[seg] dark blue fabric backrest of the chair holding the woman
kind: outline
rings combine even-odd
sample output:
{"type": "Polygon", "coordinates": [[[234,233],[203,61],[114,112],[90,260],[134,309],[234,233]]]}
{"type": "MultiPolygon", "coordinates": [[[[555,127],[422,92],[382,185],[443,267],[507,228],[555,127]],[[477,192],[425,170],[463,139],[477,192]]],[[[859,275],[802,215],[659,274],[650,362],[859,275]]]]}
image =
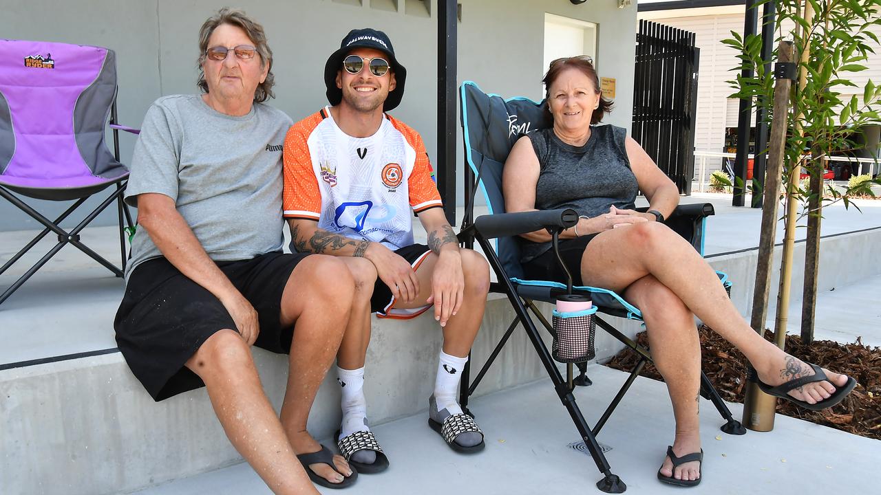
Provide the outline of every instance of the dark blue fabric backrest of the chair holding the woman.
{"type": "MultiPolygon", "coordinates": [[[[507,155],[522,135],[551,127],[551,116],[544,110],[544,101],[505,100],[497,94],[486,94],[471,81],[464,82],[460,88],[460,104],[465,161],[479,178],[478,188],[484,194],[490,213],[504,213],[501,175],[507,155]]],[[[470,204],[473,208],[473,202],[470,204]]],[[[523,277],[520,240],[500,238],[496,254],[508,276],[523,277]]]]}

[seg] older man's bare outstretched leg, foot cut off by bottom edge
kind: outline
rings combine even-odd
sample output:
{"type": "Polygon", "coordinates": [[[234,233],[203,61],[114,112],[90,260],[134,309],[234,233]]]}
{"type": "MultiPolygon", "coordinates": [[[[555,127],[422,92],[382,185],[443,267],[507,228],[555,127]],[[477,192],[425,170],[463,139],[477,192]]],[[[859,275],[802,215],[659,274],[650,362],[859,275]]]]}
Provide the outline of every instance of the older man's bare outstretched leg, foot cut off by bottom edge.
{"type": "Polygon", "coordinates": [[[263,393],[250,347],[238,332],[218,331],[186,366],[205,382],[214,412],[233,447],[273,493],[317,495],[263,393]]]}

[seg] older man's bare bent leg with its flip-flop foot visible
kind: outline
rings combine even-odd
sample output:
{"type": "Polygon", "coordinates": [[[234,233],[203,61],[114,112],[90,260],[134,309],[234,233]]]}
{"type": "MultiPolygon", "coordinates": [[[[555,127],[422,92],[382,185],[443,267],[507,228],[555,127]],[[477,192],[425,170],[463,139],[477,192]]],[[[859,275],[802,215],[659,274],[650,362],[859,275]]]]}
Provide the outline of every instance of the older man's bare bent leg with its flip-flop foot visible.
{"type": "MultiPolygon", "coordinates": [[[[313,255],[301,261],[285,285],[282,295],[282,324],[296,321],[290,354],[281,424],[296,454],[321,450],[307,432],[309,410],[318,387],[333,363],[343,338],[352,307],[354,284],[343,262],[331,256],[313,255]],[[333,280],[333,284],[328,284],[333,280]]],[[[316,474],[331,483],[340,483],[352,474],[348,463],[334,456],[337,471],[327,464],[311,464],[316,474]]]]}

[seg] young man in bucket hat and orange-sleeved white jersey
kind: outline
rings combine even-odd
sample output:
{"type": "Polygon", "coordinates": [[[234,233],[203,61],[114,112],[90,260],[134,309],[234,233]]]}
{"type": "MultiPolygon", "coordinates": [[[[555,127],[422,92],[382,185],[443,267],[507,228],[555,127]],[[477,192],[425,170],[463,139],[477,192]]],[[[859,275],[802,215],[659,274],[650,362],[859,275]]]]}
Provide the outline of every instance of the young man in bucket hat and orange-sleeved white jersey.
{"type": "Polygon", "coordinates": [[[429,424],[456,451],[485,445],[455,393],[483,318],[489,267],[459,247],[422,138],[384,113],[401,102],[406,78],[385,33],[352,30],[325,65],[330,106],[294,124],[285,138],[285,218],[293,247],[342,256],[355,277],[352,315],[337,353],[343,396],[337,446],[364,474],[389,466],[367,425],[363,393],[371,313],[412,318],[434,307],[444,340],[429,424]],[[411,211],[428,233],[427,246],[414,243],[411,211]]]}

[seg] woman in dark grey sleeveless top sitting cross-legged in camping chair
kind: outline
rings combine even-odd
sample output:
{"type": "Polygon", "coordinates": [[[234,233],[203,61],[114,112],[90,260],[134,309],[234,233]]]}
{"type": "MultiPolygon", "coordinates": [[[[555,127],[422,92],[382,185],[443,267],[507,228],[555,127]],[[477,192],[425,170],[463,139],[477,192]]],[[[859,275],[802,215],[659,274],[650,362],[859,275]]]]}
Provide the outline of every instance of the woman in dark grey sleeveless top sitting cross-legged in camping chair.
{"type": "MultiPolygon", "coordinates": [[[[673,403],[676,436],[658,470],[668,484],[700,483],[700,341],[694,316],[737,346],[767,393],[811,409],[831,407],[853,388],[838,373],[815,373],[750,328],[714,270],[663,224],[679,202],[677,187],[626,130],[596,126],[611,110],[589,57],[562,58],[544,76],[552,129],[521,137],[505,164],[507,211],[572,208],[581,218],[560,234],[559,249],[576,284],[611,289],[639,307],[652,358],[673,403]],[[634,210],[637,190],[648,212],[634,210]],[[815,376],[812,376],[815,375],[815,376]],[[803,386],[795,380],[814,380],[803,386]],[[777,386],[781,386],[777,388],[777,386]]],[[[522,234],[530,278],[563,282],[545,231],[522,234]]]]}

